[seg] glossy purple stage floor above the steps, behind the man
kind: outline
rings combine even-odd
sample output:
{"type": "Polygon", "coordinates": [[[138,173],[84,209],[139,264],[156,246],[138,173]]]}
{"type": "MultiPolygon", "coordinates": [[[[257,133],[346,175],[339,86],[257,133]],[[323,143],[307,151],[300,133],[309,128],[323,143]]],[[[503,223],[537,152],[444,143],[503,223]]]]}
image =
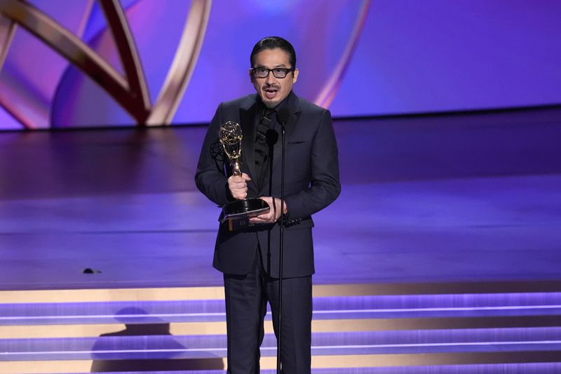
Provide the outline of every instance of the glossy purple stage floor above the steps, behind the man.
{"type": "MultiPolygon", "coordinates": [[[[560,108],[335,128],[316,284],[561,280],[560,108]]],[[[0,133],[0,289],[219,286],[219,208],[193,180],[204,133],[0,133]]]]}

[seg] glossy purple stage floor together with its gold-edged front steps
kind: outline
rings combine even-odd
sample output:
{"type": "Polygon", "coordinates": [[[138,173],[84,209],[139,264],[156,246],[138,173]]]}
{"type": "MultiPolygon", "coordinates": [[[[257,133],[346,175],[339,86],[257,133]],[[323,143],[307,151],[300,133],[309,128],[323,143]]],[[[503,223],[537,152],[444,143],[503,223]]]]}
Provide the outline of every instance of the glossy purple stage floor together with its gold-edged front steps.
{"type": "MultiPolygon", "coordinates": [[[[560,373],[561,107],[335,130],[312,373],[560,373]]],[[[224,373],[204,133],[0,133],[0,373],[224,373]]]]}

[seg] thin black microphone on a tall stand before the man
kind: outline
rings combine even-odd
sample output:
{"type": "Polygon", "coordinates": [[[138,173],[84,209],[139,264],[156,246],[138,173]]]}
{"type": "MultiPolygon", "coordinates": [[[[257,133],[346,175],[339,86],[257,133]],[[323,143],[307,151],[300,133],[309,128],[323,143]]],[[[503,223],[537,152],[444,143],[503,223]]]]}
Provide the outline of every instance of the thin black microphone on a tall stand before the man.
{"type": "Polygon", "coordinates": [[[294,113],[288,107],[282,107],[276,112],[276,119],[280,124],[280,133],[283,136],[282,152],[280,156],[280,246],[278,252],[278,337],[276,340],[276,373],[280,374],[280,339],[282,335],[282,310],[283,310],[283,250],[285,234],[285,126],[295,119],[294,113]]]}

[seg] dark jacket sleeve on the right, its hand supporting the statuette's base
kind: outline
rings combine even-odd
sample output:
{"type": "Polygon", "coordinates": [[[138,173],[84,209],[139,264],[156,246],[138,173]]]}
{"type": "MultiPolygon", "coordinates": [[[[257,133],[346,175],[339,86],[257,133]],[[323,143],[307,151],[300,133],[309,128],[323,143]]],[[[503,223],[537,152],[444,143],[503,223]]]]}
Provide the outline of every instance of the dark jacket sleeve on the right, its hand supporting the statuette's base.
{"type": "Polygon", "coordinates": [[[337,141],[327,109],[322,109],[313,134],[310,163],[309,187],[285,198],[290,221],[309,218],[337,199],[341,192],[337,141]]]}

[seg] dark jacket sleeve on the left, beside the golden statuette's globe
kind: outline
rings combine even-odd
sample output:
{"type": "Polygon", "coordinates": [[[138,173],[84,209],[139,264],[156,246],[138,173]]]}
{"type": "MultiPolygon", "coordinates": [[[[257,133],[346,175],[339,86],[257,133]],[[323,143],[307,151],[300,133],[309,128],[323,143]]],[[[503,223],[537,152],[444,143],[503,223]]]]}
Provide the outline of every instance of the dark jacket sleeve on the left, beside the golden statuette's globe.
{"type": "Polygon", "coordinates": [[[228,180],[224,164],[229,162],[219,142],[219,130],[222,123],[222,104],[218,106],[215,116],[203,141],[203,148],[198,158],[195,183],[199,191],[216,203],[223,206],[234,198],[228,188],[228,180]]]}

